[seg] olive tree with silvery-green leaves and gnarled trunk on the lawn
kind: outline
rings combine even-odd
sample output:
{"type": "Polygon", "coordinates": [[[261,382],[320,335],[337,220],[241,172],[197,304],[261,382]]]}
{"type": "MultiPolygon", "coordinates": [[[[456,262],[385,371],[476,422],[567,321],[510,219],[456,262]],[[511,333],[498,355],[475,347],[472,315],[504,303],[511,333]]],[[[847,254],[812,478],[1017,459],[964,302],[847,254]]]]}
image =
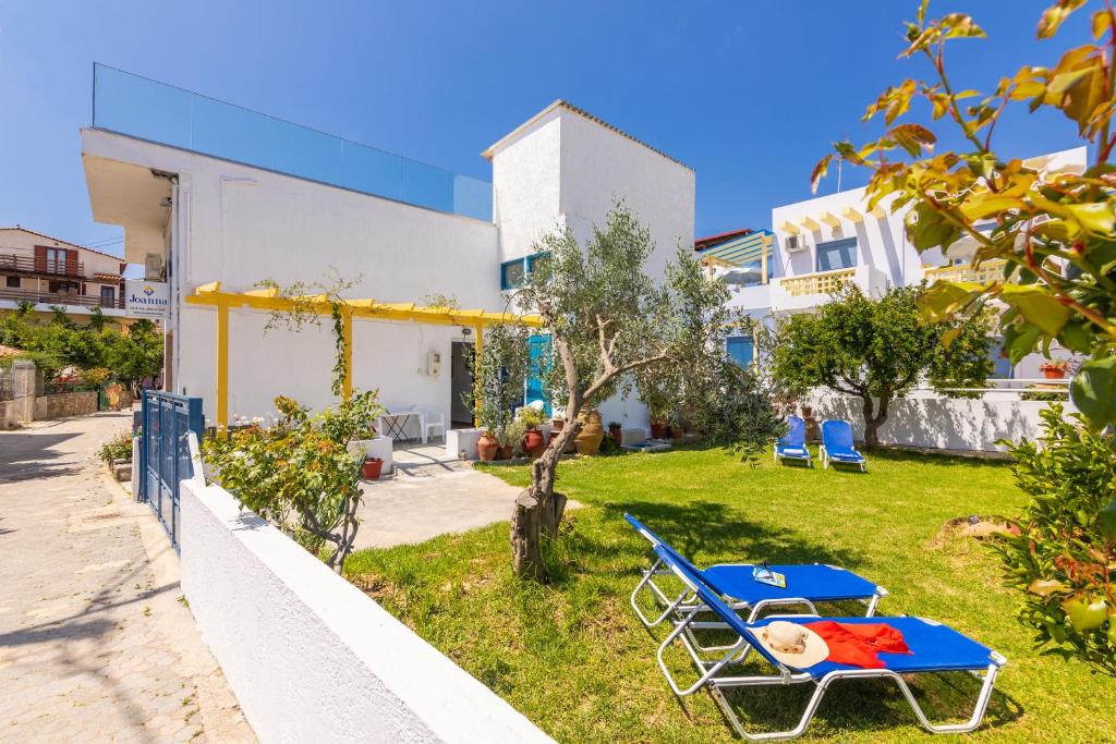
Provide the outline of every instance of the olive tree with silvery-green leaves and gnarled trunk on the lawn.
{"type": "Polygon", "coordinates": [[[566,496],[555,492],[560,453],[581,431],[579,416],[616,392],[631,392],[636,370],[683,366],[701,348],[695,328],[718,299],[694,297],[679,267],[693,272],[692,247],[680,245],[662,283],[646,273],[654,251],[650,231],[623,203],[595,225],[585,245],[568,229],[533,247],[542,255],[514,302],[542,319],[555,354],[550,388],[565,405],[566,426],[531,464],[531,485],[516,500],[512,562],[522,577],[545,578],[543,537],[557,534],[566,496]]]}

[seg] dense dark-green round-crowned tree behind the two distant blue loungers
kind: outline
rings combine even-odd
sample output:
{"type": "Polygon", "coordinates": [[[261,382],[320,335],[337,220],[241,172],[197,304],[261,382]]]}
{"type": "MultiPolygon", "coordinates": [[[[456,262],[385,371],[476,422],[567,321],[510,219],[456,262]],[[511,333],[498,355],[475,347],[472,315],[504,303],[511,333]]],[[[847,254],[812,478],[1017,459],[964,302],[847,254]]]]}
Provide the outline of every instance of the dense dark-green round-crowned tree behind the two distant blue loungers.
{"type": "Polygon", "coordinates": [[[979,387],[993,368],[988,321],[924,321],[921,291],[892,288],[867,297],[846,284],[817,312],[780,325],[771,374],[799,394],[826,387],[860,398],[864,442],[879,444],[892,400],[924,377],[936,387],[979,387]]]}

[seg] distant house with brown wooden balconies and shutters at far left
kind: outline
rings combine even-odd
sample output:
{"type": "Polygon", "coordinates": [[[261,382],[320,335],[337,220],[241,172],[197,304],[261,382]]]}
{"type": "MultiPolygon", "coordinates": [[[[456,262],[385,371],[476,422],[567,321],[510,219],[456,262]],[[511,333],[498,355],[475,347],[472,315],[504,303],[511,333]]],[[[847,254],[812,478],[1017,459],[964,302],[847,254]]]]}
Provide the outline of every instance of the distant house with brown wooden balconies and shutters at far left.
{"type": "Polygon", "coordinates": [[[21,226],[0,228],[0,312],[31,302],[49,315],[60,306],[80,318],[93,308],[124,315],[124,269],[118,257],[21,226]]]}

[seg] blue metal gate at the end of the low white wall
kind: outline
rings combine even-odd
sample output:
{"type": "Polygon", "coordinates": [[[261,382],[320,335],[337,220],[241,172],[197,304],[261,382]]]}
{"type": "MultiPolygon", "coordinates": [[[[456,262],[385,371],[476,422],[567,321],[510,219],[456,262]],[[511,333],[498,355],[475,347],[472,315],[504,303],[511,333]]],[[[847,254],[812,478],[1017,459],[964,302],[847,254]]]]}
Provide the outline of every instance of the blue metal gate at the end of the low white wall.
{"type": "Polygon", "coordinates": [[[179,483],[194,474],[186,435],[193,432],[202,441],[202,399],[145,390],[140,425],[140,497],[179,550],[179,483]]]}

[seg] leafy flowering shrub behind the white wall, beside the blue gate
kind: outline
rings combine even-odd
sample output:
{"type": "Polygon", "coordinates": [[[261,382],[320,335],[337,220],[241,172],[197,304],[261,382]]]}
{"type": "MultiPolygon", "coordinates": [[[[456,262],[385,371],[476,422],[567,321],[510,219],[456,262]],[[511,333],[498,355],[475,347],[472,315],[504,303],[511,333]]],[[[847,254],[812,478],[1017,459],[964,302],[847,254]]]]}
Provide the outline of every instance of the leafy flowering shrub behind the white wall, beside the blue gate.
{"type": "Polygon", "coordinates": [[[296,538],[312,552],[328,545],[325,562],[340,572],[359,521],[364,453],[348,445],[383,413],[376,392],[354,394],[314,416],[280,396],[282,417],[270,427],[253,423],[208,438],[202,454],[215,480],[244,506],[296,538]]]}

